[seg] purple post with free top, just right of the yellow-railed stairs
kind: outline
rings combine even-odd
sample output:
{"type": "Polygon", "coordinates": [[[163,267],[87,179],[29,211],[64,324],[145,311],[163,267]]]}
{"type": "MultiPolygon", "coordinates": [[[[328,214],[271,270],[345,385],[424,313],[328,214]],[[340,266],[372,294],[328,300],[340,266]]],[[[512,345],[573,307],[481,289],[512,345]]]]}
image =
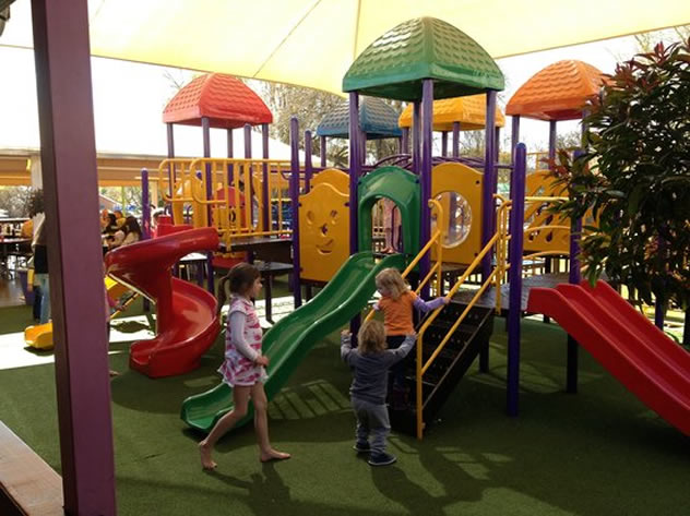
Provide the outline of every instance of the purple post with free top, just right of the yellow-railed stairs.
{"type": "Polygon", "coordinates": [[[524,143],[515,148],[511,192],[513,206],[510,213],[511,235],[510,292],[508,307],[508,415],[518,416],[520,391],[520,319],[522,316],[522,251],[525,218],[525,168],[527,151],[524,143]]]}

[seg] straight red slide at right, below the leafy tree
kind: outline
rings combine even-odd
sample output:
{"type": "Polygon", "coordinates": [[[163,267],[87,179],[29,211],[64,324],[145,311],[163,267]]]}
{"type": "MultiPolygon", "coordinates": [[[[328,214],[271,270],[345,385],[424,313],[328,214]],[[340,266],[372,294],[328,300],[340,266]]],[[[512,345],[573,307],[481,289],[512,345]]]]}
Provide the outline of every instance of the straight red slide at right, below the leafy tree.
{"type": "Polygon", "coordinates": [[[527,311],[554,317],[642,403],[690,435],[690,353],[608,284],[534,288],[527,311]]]}

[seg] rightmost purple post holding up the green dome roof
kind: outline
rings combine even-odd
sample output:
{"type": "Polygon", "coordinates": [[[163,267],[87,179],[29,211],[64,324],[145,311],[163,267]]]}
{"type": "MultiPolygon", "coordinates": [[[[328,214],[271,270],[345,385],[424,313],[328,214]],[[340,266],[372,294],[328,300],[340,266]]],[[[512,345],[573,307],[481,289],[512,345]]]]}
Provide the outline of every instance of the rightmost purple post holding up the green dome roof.
{"type": "MultiPolygon", "coordinates": [[[[481,247],[491,240],[496,226],[496,167],[493,166],[493,137],[496,128],[496,92],[489,89],[486,94],[486,128],[485,128],[485,154],[484,154],[484,191],[483,191],[483,213],[481,213],[481,247]]],[[[485,254],[481,260],[481,278],[484,281],[491,274],[491,263],[493,261],[492,250],[485,254]]]]}

